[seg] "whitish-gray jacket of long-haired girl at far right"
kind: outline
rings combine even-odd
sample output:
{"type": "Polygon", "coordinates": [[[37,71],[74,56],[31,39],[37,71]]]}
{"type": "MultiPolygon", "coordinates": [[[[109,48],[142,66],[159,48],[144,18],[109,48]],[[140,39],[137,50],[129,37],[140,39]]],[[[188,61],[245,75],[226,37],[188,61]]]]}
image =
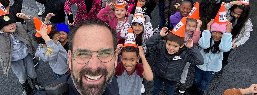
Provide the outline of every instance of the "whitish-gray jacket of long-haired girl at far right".
{"type": "MultiPolygon", "coordinates": [[[[230,13],[230,11],[228,10],[229,8],[231,8],[233,5],[231,5],[230,3],[227,3],[225,5],[225,9],[226,9],[226,14],[227,15],[227,20],[228,21],[231,21],[233,17],[230,16],[230,14],[233,14],[233,13],[230,13]]],[[[232,26],[236,25],[237,23],[237,20],[235,20],[235,23],[233,23],[232,26]]],[[[253,31],[252,29],[253,25],[252,25],[252,22],[251,22],[251,19],[249,18],[249,20],[247,20],[245,23],[244,23],[244,27],[243,29],[239,32],[238,36],[237,37],[234,37],[232,39],[232,44],[236,44],[236,46],[240,46],[242,44],[244,44],[250,37],[250,32],[253,31]]],[[[232,27],[232,30],[233,30],[233,27],[232,27]]]]}

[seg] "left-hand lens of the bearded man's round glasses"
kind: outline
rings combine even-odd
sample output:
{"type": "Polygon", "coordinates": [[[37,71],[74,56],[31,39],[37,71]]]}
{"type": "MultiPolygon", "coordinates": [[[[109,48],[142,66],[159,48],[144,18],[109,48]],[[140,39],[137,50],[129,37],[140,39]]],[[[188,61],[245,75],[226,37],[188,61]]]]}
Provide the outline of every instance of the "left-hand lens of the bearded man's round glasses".
{"type": "Polygon", "coordinates": [[[89,50],[77,50],[76,52],[74,52],[74,60],[79,63],[79,64],[85,64],[87,63],[90,58],[91,58],[91,53],[89,50]]]}

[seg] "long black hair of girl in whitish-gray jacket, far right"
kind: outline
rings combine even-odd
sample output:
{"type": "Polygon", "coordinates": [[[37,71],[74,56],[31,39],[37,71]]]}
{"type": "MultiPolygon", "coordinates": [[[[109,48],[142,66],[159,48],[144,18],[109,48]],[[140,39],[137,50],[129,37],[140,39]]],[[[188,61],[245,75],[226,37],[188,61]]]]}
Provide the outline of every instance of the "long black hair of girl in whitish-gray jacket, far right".
{"type": "Polygon", "coordinates": [[[235,26],[232,27],[232,31],[231,31],[232,39],[234,39],[238,36],[240,31],[244,28],[244,24],[248,20],[250,20],[249,19],[249,13],[250,13],[251,10],[250,10],[250,7],[248,5],[241,5],[241,6],[233,5],[229,9],[229,11],[230,11],[230,14],[227,14],[227,15],[230,15],[231,17],[233,17],[230,22],[232,24],[236,24],[235,26]],[[234,9],[241,9],[242,10],[241,16],[237,19],[237,23],[235,23],[236,18],[233,15],[234,9]]]}

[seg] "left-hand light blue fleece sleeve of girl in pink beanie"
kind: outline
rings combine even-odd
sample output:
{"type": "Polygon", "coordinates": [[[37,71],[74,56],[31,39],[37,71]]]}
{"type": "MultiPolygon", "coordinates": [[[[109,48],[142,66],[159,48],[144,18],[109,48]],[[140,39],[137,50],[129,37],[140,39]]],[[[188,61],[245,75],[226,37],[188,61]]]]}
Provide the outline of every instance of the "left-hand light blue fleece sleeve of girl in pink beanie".
{"type": "Polygon", "coordinates": [[[212,34],[210,33],[209,30],[204,30],[202,33],[202,37],[198,41],[198,44],[201,46],[203,49],[207,49],[210,47],[210,37],[212,34]]]}

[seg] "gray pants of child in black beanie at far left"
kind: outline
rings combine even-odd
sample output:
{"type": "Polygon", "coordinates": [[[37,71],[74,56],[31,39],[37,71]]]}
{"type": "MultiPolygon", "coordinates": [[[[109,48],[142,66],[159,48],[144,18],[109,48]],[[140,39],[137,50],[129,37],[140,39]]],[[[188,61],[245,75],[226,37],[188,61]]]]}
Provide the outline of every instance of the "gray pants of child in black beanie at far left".
{"type": "Polygon", "coordinates": [[[32,79],[36,78],[33,58],[30,53],[22,60],[12,61],[11,68],[21,84],[27,80],[27,74],[32,79]]]}

